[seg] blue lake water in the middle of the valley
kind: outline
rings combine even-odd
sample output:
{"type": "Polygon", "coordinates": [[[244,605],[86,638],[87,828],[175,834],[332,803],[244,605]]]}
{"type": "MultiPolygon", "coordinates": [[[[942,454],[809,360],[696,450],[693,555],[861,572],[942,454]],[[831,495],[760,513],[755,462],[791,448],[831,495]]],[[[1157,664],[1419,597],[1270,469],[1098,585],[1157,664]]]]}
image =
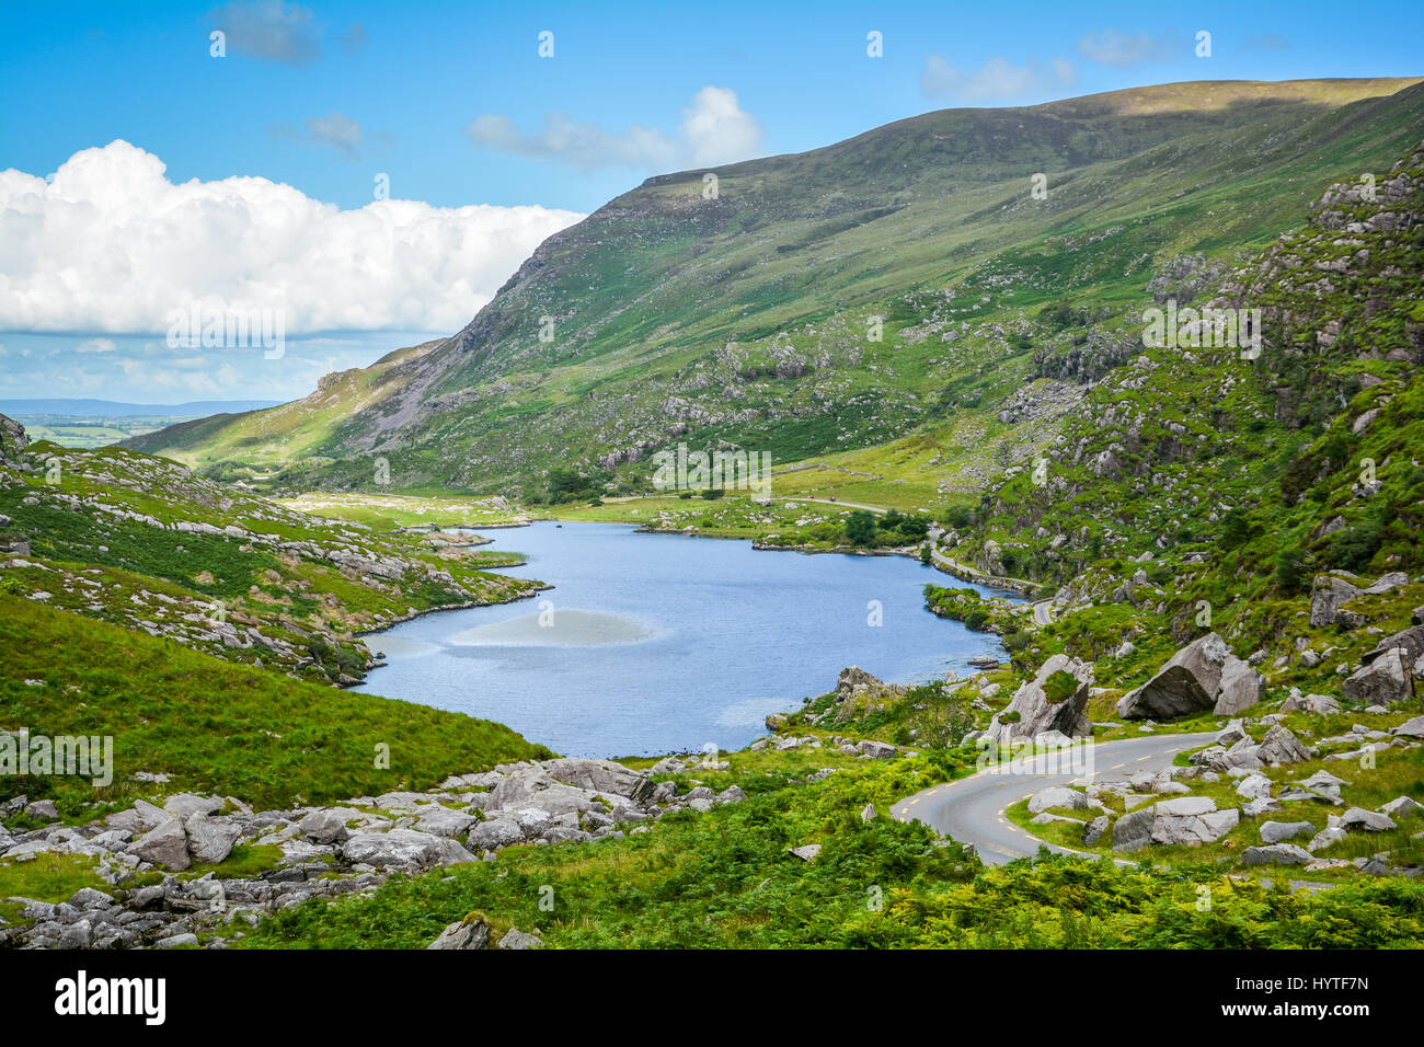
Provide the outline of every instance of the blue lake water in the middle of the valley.
{"type": "Polygon", "coordinates": [[[484,534],[484,548],[528,557],[506,571],[554,588],[369,637],[389,664],[357,689],[496,719],[570,756],[631,756],[739,749],[766,734],[768,712],[830,691],[846,665],[924,682],[1002,650],[924,610],[927,583],[964,583],[906,557],[758,551],[628,524],[484,534]]]}

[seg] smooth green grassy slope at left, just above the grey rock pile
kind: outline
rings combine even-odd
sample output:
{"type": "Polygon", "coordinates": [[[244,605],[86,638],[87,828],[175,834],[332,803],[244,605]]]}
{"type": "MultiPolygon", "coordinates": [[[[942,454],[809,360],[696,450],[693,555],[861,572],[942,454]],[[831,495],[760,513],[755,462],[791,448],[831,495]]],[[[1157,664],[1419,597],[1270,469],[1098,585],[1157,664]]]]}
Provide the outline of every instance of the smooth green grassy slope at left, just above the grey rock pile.
{"type": "Polygon", "coordinates": [[[108,788],[0,778],[0,796],[48,796],[73,821],[151,795],[155,786],[132,781],[137,771],[168,773],[171,792],[281,806],[551,755],[500,724],[286,679],[4,594],[0,647],[0,726],[114,739],[108,788]],[[389,746],[389,769],[377,766],[377,746],[389,746]]]}

